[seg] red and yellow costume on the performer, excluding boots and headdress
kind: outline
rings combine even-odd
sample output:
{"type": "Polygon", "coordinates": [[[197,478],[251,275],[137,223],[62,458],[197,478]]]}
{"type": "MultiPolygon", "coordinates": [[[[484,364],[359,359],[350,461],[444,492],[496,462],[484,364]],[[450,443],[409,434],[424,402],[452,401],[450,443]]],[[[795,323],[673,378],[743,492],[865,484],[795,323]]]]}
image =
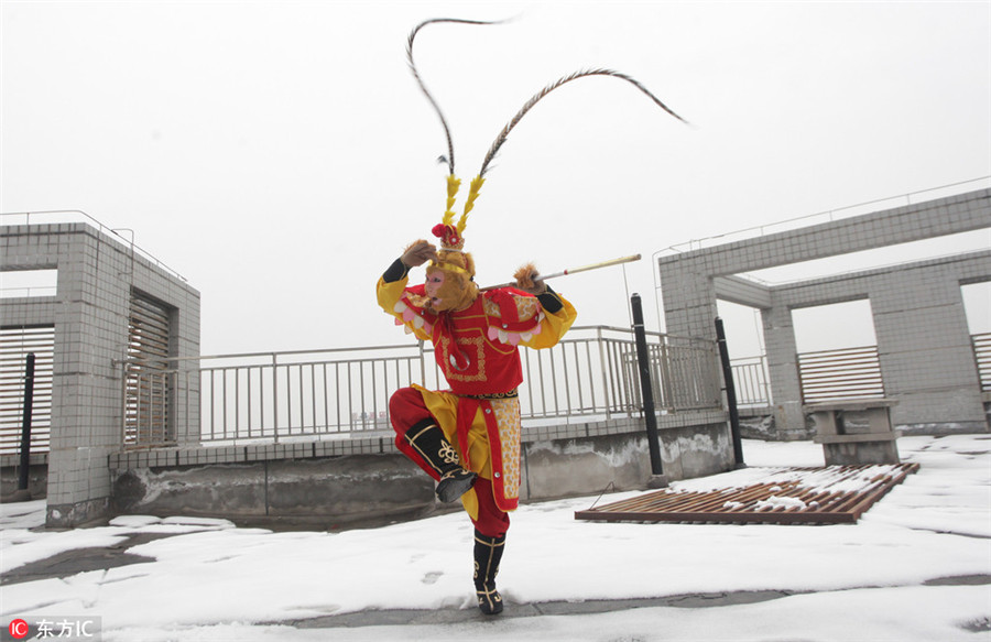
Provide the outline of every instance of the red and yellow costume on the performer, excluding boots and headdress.
{"type": "Polygon", "coordinates": [[[482,533],[504,535],[508,518],[500,525],[498,513],[515,509],[520,497],[520,403],[515,390],[523,372],[519,348],[556,345],[577,313],[556,293],[538,297],[514,287],[481,292],[464,309],[436,312],[423,285],[406,287],[406,274],[395,281],[386,281],[386,276],[379,279],[379,305],[395,317],[398,325],[433,344],[437,364],[450,385],[449,391],[431,391],[414,384],[422,405],[411,396],[411,389],[398,391],[390,404],[396,446],[434,479],[439,478],[403,437],[423,418],[417,416],[420,409],[425,409],[457,448],[461,466],[480,478],[461,496],[472,522],[482,533]],[[494,521],[489,514],[492,512],[497,514],[494,521]]]}

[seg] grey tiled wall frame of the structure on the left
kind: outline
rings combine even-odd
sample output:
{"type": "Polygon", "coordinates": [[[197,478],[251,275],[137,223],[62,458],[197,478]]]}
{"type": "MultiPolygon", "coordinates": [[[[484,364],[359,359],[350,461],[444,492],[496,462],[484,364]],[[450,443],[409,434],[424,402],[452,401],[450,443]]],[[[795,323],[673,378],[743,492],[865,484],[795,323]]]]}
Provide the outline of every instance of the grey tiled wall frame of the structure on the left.
{"type": "Polygon", "coordinates": [[[174,309],[174,357],[199,352],[199,293],[86,224],[4,226],[0,247],[2,271],[58,271],[55,295],[6,298],[0,316],[4,327],[55,328],[47,522],[80,524],[110,510],[107,460],[121,447],[131,293],[174,309]]]}

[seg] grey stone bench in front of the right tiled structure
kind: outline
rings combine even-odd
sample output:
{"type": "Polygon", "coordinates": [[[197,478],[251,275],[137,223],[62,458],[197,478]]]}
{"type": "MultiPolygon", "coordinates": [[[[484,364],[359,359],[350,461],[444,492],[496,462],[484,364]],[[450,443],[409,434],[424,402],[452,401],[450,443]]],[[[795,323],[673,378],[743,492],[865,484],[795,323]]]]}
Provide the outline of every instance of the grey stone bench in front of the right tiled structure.
{"type": "Polygon", "coordinates": [[[814,442],[823,444],[827,466],[901,464],[891,425],[893,399],[837,399],[805,406],[816,427],[814,442]]]}

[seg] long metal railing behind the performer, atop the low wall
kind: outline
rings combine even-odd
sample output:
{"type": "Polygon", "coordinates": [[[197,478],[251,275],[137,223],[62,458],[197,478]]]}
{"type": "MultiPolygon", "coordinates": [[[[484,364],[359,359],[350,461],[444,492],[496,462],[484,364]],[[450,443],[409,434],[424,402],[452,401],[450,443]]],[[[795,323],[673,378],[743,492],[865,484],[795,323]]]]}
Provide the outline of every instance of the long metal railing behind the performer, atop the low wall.
{"type": "MultiPolygon", "coordinates": [[[[658,333],[649,333],[647,339],[662,412],[721,407],[715,341],[658,333]]],[[[640,412],[629,329],[575,327],[554,348],[522,352],[524,420],[640,412]]],[[[388,431],[389,398],[396,389],[412,383],[447,388],[433,348],[423,344],[171,361],[170,370],[121,364],[131,368],[124,390],[131,402],[124,402],[131,409],[122,434],[126,447],[275,443],[388,431]]]]}

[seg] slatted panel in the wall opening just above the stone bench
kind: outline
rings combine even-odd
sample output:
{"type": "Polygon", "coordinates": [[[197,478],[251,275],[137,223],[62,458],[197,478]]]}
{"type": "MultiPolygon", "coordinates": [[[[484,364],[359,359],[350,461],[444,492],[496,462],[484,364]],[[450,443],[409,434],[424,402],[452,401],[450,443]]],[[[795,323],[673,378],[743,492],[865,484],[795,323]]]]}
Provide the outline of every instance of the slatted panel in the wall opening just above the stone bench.
{"type": "Polygon", "coordinates": [[[876,346],[798,355],[803,403],[884,396],[876,346]]]}

